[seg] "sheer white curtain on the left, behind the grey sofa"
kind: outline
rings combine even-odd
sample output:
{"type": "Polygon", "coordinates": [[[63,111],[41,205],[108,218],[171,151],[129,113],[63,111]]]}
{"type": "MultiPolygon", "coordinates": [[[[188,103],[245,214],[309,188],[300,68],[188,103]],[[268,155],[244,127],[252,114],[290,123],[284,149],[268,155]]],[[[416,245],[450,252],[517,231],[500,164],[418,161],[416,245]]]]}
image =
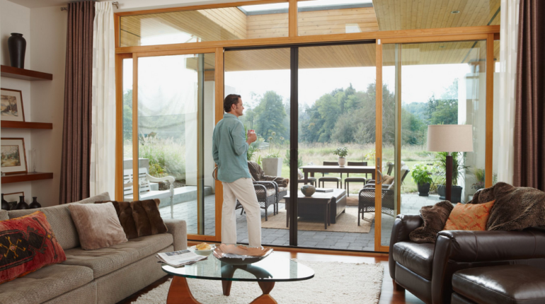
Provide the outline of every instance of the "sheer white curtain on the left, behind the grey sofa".
{"type": "Polygon", "coordinates": [[[115,28],[111,1],[95,3],[91,196],[115,197],[115,28]]]}

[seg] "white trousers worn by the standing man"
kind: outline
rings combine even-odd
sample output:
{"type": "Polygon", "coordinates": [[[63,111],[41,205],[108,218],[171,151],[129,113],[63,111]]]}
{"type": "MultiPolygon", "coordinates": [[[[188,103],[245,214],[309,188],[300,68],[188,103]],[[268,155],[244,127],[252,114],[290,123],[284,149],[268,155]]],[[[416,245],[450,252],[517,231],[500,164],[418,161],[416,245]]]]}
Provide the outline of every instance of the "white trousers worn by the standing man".
{"type": "Polygon", "coordinates": [[[261,210],[251,178],[239,178],[234,182],[222,182],[222,243],[236,244],[236,199],[246,211],[248,245],[261,247],[261,210]]]}

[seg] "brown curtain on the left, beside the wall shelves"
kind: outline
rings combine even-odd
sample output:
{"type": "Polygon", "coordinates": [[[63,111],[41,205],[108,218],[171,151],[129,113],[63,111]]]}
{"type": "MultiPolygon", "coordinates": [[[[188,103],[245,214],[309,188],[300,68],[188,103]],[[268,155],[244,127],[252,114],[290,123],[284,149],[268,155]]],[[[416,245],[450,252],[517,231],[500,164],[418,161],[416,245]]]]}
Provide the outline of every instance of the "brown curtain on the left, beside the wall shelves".
{"type": "Polygon", "coordinates": [[[93,1],[68,4],[60,203],[89,197],[93,1]]]}

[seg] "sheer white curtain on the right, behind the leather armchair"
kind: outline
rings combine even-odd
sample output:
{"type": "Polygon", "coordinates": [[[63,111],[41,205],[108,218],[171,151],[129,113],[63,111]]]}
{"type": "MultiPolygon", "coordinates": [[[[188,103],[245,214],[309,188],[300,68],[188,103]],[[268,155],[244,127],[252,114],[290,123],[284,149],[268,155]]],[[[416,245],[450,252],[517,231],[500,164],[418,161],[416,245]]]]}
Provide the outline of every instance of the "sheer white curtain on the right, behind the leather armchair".
{"type": "Polygon", "coordinates": [[[501,1],[500,25],[500,134],[498,182],[513,182],[513,130],[515,129],[515,83],[517,82],[517,45],[520,0],[501,1]]]}

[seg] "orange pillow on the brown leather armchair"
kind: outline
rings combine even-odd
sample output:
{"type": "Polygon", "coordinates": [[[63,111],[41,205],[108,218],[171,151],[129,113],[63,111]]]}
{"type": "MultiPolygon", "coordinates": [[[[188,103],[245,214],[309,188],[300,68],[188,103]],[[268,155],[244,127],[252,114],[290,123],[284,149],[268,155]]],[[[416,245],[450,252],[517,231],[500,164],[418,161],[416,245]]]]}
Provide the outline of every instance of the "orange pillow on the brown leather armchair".
{"type": "Polygon", "coordinates": [[[486,222],[495,201],[485,204],[456,204],[443,230],[486,230],[486,222]]]}

